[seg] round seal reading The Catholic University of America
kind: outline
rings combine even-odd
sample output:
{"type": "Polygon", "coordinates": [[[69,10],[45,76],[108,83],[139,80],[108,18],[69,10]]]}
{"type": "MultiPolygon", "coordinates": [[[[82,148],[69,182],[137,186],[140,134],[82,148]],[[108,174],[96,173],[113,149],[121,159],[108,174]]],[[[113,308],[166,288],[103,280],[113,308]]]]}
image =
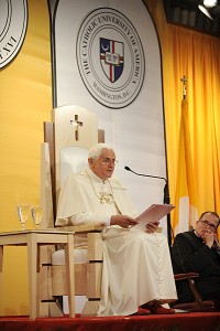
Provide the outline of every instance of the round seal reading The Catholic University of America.
{"type": "Polygon", "coordinates": [[[76,50],[84,84],[100,104],[122,108],[135,99],[144,79],[144,53],[128,18],[111,8],[90,12],[76,50]]]}

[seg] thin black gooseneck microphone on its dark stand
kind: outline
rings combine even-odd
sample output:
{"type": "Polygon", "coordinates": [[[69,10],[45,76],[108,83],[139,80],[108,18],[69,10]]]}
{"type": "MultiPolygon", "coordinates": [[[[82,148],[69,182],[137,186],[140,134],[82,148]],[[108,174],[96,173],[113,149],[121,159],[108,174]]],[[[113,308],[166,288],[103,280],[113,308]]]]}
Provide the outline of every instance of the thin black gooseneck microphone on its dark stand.
{"type": "MultiPolygon", "coordinates": [[[[164,204],[169,204],[169,190],[168,190],[168,182],[167,179],[164,177],[160,177],[160,175],[153,175],[153,174],[144,174],[144,173],[138,173],[133,170],[131,170],[131,168],[129,168],[128,166],[124,167],[124,169],[127,171],[131,171],[136,175],[142,175],[142,177],[148,177],[148,178],[157,178],[157,179],[162,179],[165,181],[165,186],[164,186],[164,204]]],[[[172,247],[172,223],[170,223],[170,213],[167,214],[167,241],[168,241],[168,246],[169,248],[172,247]]]]}

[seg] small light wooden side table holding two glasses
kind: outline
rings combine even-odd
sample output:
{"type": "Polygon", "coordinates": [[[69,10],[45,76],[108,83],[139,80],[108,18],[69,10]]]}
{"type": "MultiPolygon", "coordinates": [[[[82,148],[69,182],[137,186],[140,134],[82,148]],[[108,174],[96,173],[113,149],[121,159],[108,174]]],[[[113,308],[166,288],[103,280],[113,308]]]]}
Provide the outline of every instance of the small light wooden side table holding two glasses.
{"type": "Polygon", "coordinates": [[[74,275],[74,233],[66,231],[26,229],[0,233],[0,288],[2,286],[3,248],[4,246],[28,247],[29,270],[29,302],[30,318],[40,317],[38,299],[38,273],[40,273],[40,246],[65,245],[65,265],[67,275],[67,288],[69,300],[69,317],[75,317],[75,275],[74,275]]]}

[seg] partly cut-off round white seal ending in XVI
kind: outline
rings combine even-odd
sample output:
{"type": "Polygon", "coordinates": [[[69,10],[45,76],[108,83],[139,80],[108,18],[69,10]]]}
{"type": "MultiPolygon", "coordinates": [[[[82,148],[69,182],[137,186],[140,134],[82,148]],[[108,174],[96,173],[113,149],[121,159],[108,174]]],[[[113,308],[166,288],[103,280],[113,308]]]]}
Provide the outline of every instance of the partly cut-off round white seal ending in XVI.
{"type": "Polygon", "coordinates": [[[26,25],[26,0],[0,0],[0,68],[18,54],[26,25]]]}

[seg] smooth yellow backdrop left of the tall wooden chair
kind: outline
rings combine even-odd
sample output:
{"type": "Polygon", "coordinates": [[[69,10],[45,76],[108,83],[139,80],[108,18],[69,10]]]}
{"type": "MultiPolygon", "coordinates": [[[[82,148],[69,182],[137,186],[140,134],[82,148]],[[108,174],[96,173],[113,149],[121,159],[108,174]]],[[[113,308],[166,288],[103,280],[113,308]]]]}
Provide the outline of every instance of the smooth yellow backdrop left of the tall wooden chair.
{"type": "MultiPolygon", "coordinates": [[[[24,43],[0,71],[0,231],[21,229],[16,204],[40,202],[43,121],[51,119],[51,40],[46,0],[29,0],[24,43]]],[[[29,217],[26,228],[33,228],[29,217]]],[[[25,247],[6,247],[0,314],[28,314],[25,247]]]]}

